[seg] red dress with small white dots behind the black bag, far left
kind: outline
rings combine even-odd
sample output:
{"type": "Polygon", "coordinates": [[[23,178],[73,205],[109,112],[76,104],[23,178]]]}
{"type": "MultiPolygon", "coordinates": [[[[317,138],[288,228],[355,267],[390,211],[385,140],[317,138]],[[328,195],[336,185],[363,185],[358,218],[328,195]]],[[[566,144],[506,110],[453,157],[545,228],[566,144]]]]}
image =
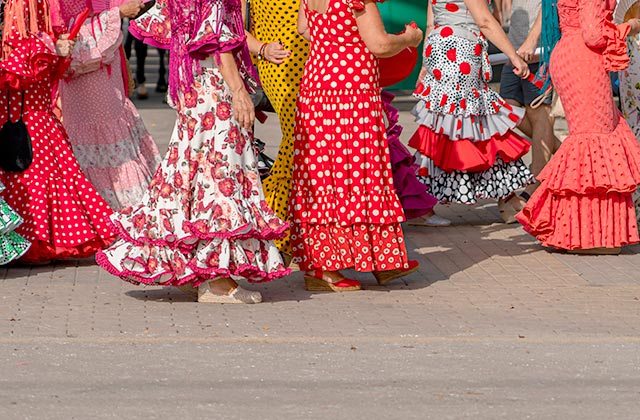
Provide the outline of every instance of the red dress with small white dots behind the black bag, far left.
{"type": "MultiPolygon", "coordinates": [[[[29,44],[15,48],[6,68],[28,62],[29,44]]],[[[44,62],[44,61],[43,61],[44,62]]],[[[57,59],[50,64],[57,64],[57,59]]],[[[0,95],[0,124],[10,116],[23,120],[31,135],[33,163],[22,173],[0,171],[7,190],[2,197],[24,218],[16,230],[32,242],[25,261],[84,258],[111,243],[112,211],[84,176],[62,124],[52,112],[51,73],[24,91],[0,95]]]]}

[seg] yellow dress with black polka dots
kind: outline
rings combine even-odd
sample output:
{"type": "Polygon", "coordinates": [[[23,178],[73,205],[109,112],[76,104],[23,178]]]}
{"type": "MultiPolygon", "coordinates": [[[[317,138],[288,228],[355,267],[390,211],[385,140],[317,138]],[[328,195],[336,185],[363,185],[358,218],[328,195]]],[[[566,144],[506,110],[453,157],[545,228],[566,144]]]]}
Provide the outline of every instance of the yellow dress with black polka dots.
{"type": "MultiPolygon", "coordinates": [[[[250,4],[253,35],[262,42],[281,41],[291,51],[291,57],[283,64],[258,62],[262,87],[278,113],[282,129],[280,150],[263,188],[269,206],[278,217],[289,220],[296,98],[309,49],[297,30],[300,0],[252,0],[250,4]]],[[[276,245],[291,254],[288,236],[276,241],[276,245]]]]}

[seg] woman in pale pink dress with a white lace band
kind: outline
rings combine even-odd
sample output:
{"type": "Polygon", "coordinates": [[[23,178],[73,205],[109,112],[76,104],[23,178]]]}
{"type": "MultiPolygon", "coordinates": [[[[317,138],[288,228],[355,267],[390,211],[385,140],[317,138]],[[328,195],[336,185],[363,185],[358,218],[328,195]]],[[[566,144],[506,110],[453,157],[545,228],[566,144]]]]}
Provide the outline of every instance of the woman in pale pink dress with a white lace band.
{"type": "MultiPolygon", "coordinates": [[[[140,0],[94,1],[82,26],[70,72],[60,84],[63,123],[80,167],[114,210],[138,203],[160,162],[153,138],[128,96],[121,19],[140,0]],[[102,5],[97,3],[103,3],[102,5]]],[[[86,0],[60,0],[67,27],[86,0]]]]}

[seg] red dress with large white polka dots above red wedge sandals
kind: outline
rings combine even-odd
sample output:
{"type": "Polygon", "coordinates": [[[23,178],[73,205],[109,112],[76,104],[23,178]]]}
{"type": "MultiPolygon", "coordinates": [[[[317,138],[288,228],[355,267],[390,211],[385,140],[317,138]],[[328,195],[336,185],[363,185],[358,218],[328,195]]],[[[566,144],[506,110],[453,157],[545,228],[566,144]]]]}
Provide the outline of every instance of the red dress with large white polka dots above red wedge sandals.
{"type": "MultiPolygon", "coordinates": [[[[304,1],[304,0],[303,0],[304,1]]],[[[311,50],[300,87],[291,211],[302,270],[408,267],[376,58],[358,32],[362,2],[307,8],[311,50]]]]}

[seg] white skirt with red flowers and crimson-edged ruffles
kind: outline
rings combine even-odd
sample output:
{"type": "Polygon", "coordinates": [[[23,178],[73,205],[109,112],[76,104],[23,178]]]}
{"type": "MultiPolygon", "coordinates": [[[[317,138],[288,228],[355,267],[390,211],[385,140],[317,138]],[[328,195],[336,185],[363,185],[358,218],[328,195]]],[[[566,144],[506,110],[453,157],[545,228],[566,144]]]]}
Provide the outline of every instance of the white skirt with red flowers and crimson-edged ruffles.
{"type": "Polygon", "coordinates": [[[288,225],[264,200],[252,134],[231,113],[216,68],[203,68],[178,105],[169,150],[142,201],[112,217],[120,239],[97,255],[133,283],[183,285],[289,274],[272,240],[288,225]]]}

